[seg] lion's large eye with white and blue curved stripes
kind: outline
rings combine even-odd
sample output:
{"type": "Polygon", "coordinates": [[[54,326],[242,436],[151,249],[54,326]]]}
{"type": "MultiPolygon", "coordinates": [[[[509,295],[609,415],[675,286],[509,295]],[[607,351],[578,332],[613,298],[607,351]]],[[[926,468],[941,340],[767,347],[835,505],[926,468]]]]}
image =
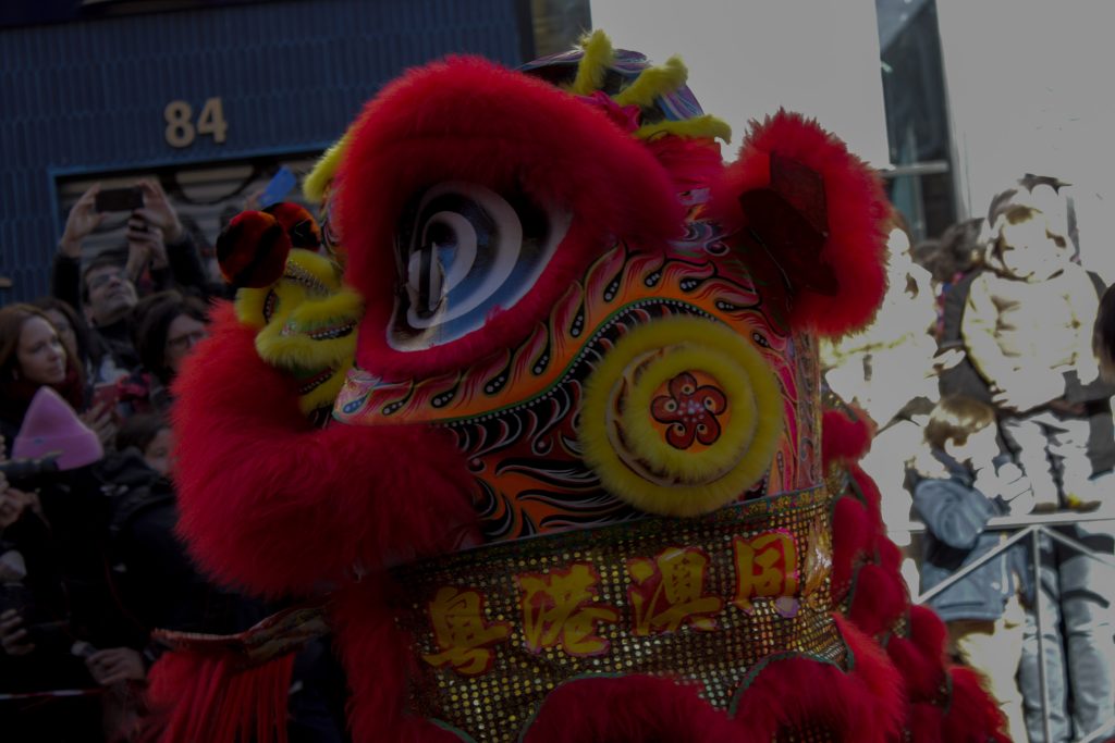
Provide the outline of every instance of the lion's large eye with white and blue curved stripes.
{"type": "Polygon", "coordinates": [[[404,216],[399,291],[388,342],[418,351],[478,329],[534,286],[569,228],[570,215],[524,194],[447,182],[404,216]]]}

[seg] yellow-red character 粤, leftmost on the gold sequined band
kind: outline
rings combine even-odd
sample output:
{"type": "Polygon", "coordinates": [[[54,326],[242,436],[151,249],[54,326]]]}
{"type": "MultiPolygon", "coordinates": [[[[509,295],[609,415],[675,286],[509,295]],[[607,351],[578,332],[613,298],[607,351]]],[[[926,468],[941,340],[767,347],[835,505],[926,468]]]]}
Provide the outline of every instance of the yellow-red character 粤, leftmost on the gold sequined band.
{"type": "Polygon", "coordinates": [[[495,659],[492,645],[511,635],[506,622],[484,619],[484,596],[476,590],[445,586],[429,603],[429,618],[440,653],[423,655],[434,667],[452,666],[465,676],[488,672],[495,659]]]}

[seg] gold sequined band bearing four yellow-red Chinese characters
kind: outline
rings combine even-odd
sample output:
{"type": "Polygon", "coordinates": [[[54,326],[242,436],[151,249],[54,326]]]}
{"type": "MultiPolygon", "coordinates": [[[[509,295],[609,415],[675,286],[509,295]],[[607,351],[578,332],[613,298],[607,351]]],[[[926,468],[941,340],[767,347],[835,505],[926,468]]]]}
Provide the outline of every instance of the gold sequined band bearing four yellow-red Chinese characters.
{"type": "Polygon", "coordinates": [[[843,667],[830,507],[814,488],[403,566],[397,622],[419,668],[411,712],[477,741],[515,741],[578,676],[669,674],[728,710],[769,655],[843,667]]]}

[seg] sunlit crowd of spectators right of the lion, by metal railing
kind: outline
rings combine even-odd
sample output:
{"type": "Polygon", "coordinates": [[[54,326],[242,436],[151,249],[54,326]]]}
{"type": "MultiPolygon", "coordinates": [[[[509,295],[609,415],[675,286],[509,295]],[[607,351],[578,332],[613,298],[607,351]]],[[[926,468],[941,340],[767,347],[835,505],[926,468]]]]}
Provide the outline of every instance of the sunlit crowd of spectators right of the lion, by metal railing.
{"type": "Polygon", "coordinates": [[[896,216],[879,320],[824,353],[826,383],[875,426],[863,467],[912,593],[938,589],[951,652],[1030,743],[1115,734],[1115,292],[1080,264],[1067,186],[1027,175],[918,245],[896,216]],[[1051,516],[1097,511],[1112,519],[1051,516]],[[1046,515],[1108,561],[1041,532],[1037,581],[1019,546],[946,584],[1008,539],[1005,519],[1046,515]]]}

